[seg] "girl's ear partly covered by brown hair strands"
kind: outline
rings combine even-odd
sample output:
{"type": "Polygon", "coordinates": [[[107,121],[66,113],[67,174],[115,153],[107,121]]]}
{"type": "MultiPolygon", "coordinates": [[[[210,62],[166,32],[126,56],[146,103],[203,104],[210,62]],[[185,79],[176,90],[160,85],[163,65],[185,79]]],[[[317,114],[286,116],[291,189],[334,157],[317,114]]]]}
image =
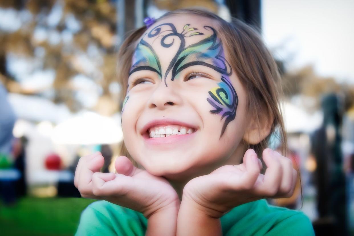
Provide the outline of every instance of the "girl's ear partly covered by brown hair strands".
{"type": "Polygon", "coordinates": [[[263,119],[262,117],[253,118],[250,125],[246,129],[243,139],[252,145],[260,143],[269,135],[270,130],[272,129],[273,121],[274,117],[269,114],[263,117],[263,119]],[[265,119],[266,117],[268,119],[265,119]]]}

